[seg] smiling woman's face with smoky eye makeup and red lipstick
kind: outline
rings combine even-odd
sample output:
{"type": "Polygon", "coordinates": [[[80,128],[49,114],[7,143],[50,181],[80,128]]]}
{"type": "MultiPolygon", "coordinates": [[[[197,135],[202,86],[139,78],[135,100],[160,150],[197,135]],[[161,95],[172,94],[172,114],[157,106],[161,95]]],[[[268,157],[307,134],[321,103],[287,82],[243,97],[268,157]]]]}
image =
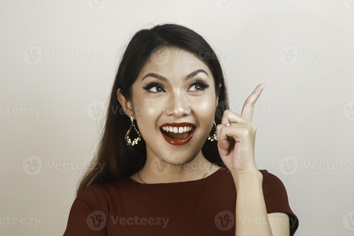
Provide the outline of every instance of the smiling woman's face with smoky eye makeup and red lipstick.
{"type": "Polygon", "coordinates": [[[132,86],[148,156],[173,165],[192,161],[213,127],[217,101],[214,78],[198,55],[175,47],[152,54],[132,86]]]}

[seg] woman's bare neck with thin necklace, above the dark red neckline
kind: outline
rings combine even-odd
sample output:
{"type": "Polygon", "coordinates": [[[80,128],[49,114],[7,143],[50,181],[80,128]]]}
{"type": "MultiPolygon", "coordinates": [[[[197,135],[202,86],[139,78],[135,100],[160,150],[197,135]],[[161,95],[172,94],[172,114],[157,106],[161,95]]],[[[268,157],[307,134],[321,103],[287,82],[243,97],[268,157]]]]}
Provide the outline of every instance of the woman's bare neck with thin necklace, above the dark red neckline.
{"type": "MultiPolygon", "coordinates": [[[[202,151],[191,161],[179,163],[167,162],[159,159],[151,152],[147,152],[147,159],[144,167],[139,171],[141,179],[146,183],[172,183],[185,182],[201,179],[211,168],[212,163],[208,161],[202,151]]],[[[164,156],[166,157],[166,156],[164,156]]],[[[209,173],[208,173],[209,174],[209,173]]],[[[205,175],[207,176],[207,174],[205,175]]]]}

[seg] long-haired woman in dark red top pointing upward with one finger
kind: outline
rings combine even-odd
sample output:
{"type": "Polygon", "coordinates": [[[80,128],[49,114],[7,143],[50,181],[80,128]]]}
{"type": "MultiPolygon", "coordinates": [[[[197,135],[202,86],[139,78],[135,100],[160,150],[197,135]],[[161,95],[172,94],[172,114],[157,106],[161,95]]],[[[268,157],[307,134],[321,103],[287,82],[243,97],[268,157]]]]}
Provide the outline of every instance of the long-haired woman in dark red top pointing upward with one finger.
{"type": "Polygon", "coordinates": [[[284,185],[255,164],[251,119],[263,88],[238,115],[199,34],[176,24],[140,30],[120,62],[97,165],[81,180],[64,236],[293,235],[284,185]]]}

